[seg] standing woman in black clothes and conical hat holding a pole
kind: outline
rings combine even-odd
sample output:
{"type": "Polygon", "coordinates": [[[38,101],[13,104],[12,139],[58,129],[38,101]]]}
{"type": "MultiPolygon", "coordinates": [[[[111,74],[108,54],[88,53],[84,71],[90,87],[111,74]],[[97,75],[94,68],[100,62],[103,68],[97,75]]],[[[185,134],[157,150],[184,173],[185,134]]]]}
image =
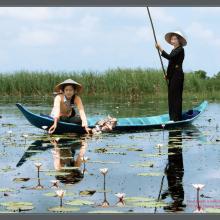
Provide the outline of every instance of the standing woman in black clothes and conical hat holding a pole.
{"type": "Polygon", "coordinates": [[[173,46],[170,54],[165,52],[159,44],[156,48],[160,50],[161,56],[166,58],[169,63],[167,67],[166,79],[168,80],[168,105],[170,120],[182,120],[182,94],[184,83],[184,72],[182,64],[184,60],[184,46],[186,38],[180,31],[169,32],[165,35],[165,40],[173,46]]]}

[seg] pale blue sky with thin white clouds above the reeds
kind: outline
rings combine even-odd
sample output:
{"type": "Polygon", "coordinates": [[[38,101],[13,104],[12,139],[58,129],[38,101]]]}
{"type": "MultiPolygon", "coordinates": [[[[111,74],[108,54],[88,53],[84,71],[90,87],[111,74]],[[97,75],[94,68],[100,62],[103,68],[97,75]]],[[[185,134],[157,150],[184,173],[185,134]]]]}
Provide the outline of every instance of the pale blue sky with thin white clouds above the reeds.
{"type": "MultiPolygon", "coordinates": [[[[187,38],[185,72],[220,71],[220,7],[152,7],[158,42],[187,38]]],[[[0,72],[160,69],[144,7],[0,7],[0,72]]],[[[167,60],[163,59],[165,66],[167,60]]]]}

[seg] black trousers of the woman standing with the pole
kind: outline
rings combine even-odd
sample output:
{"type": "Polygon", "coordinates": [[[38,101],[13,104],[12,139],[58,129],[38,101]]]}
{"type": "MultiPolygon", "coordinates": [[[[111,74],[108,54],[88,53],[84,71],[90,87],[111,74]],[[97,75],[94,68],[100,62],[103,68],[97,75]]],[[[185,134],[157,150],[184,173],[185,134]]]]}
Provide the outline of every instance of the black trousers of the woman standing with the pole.
{"type": "Polygon", "coordinates": [[[183,95],[184,74],[175,72],[168,84],[168,105],[170,120],[182,120],[182,95],[183,95]]]}

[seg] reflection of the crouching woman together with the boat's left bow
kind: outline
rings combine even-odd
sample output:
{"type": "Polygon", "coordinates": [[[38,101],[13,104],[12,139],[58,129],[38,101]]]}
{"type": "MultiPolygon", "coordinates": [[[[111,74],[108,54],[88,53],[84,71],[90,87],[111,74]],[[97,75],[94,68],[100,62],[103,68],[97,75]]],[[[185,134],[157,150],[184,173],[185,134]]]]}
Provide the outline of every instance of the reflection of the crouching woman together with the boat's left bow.
{"type": "Polygon", "coordinates": [[[36,140],[29,146],[16,166],[21,166],[31,156],[51,148],[54,168],[58,171],[58,174],[60,173],[60,175],[55,176],[56,179],[59,180],[59,182],[69,184],[81,181],[86,171],[85,161],[83,159],[85,158],[84,155],[87,148],[86,136],[78,137],[78,139],[75,140],[73,138],[36,140]],[[76,155],[76,150],[79,150],[78,155],[76,155]],[[83,171],[80,169],[82,162],[83,171]]]}

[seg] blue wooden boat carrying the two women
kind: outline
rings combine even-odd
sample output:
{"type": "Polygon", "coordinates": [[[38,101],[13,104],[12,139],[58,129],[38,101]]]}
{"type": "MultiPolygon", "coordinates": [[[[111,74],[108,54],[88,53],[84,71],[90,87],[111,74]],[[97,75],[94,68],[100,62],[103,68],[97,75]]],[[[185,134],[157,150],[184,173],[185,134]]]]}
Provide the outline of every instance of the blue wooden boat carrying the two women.
{"type": "MultiPolygon", "coordinates": [[[[183,112],[181,121],[170,121],[168,114],[150,116],[150,117],[133,117],[133,118],[118,118],[117,125],[113,129],[114,131],[136,131],[162,128],[165,125],[165,129],[172,127],[182,127],[184,125],[191,124],[200,114],[206,109],[208,102],[204,101],[199,106],[183,112]]],[[[19,110],[23,113],[25,118],[35,127],[43,129],[43,126],[47,126],[47,129],[53,124],[53,118],[49,115],[34,114],[23,107],[21,104],[16,104],[19,110]]],[[[94,128],[95,124],[101,118],[91,117],[88,119],[88,125],[90,128],[94,128]]],[[[85,133],[83,127],[73,123],[66,123],[59,121],[56,132],[60,133],[85,133]]]]}

